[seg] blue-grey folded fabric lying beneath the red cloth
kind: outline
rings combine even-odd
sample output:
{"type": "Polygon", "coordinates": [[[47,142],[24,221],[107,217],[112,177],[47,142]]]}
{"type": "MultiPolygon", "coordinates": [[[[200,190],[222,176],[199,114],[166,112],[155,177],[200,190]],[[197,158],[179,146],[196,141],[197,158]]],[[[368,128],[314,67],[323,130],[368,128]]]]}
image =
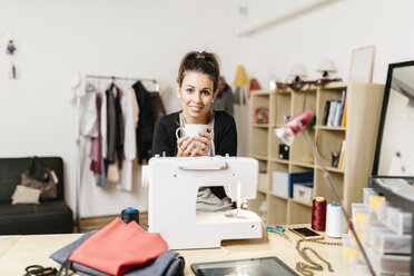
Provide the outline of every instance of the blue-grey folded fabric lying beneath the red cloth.
{"type": "MultiPolygon", "coordinates": [[[[90,231],[75,240],[73,243],[60,248],[50,258],[59,264],[63,264],[76,248],[78,248],[85,240],[92,236],[97,231],[90,231]]],[[[142,266],[130,267],[130,270],[125,276],[154,276],[154,275],[165,275],[165,276],[181,276],[184,273],[184,258],[172,250],[165,250],[156,259],[147,262],[142,266]]],[[[80,276],[108,276],[109,274],[99,272],[97,269],[90,268],[88,266],[73,263],[72,269],[80,276]]]]}

